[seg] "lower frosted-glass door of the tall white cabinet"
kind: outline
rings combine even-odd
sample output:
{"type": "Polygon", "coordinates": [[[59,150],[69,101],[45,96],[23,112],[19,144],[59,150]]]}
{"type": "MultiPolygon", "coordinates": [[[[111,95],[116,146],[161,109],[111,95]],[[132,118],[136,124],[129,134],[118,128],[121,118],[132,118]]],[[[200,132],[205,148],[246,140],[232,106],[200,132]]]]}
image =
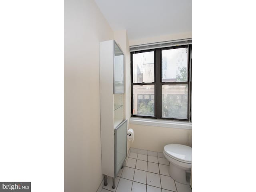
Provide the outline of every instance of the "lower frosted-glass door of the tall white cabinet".
{"type": "Polygon", "coordinates": [[[118,174],[127,154],[127,120],[114,131],[115,177],[118,174]]]}

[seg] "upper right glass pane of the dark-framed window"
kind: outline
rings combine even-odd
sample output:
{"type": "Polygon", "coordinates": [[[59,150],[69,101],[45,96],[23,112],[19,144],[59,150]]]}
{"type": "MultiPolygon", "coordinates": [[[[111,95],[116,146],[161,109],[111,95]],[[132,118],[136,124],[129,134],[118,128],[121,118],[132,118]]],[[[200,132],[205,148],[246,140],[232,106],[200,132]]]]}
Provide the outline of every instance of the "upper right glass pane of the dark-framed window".
{"type": "Polygon", "coordinates": [[[188,81],[188,48],[162,50],[162,82],[188,81]]]}

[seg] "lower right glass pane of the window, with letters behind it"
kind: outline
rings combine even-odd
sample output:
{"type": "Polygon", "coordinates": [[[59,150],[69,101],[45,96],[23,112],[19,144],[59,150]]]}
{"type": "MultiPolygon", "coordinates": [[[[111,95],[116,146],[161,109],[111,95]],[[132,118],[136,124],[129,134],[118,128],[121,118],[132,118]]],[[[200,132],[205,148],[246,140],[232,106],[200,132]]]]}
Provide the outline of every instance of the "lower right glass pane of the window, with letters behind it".
{"type": "Polygon", "coordinates": [[[188,118],[188,85],[162,86],[162,117],[188,118]]]}

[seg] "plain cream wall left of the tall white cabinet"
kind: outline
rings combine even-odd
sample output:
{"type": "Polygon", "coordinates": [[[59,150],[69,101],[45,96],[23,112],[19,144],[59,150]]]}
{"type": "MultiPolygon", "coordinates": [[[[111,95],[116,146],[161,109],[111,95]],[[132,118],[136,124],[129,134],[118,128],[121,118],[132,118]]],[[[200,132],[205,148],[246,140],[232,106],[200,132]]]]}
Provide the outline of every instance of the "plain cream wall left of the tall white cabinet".
{"type": "Polygon", "coordinates": [[[114,33],[94,0],[65,0],[64,11],[64,187],[96,192],[103,179],[99,42],[114,33]]]}

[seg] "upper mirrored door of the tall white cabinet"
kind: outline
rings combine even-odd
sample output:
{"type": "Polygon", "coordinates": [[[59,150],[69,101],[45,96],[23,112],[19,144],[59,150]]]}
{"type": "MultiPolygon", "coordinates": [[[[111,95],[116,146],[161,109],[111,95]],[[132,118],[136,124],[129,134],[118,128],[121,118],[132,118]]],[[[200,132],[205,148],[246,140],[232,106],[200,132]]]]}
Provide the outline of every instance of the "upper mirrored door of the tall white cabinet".
{"type": "Polygon", "coordinates": [[[124,93],[124,54],[114,41],[114,94],[124,93]]]}

